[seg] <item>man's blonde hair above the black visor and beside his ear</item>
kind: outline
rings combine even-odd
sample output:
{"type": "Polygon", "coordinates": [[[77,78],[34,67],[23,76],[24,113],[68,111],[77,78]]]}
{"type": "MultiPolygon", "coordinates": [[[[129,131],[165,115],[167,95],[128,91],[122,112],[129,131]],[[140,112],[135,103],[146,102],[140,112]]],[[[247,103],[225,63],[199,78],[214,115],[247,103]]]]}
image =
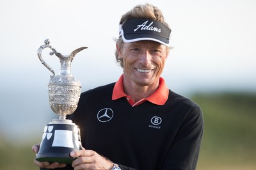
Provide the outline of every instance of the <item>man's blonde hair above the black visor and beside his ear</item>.
{"type": "MultiPolygon", "coordinates": [[[[138,4],[134,6],[129,12],[122,15],[119,24],[124,24],[127,20],[130,19],[152,19],[159,20],[164,25],[170,28],[170,26],[164,21],[164,16],[161,10],[152,4],[138,4]]],[[[115,39],[118,47],[122,49],[123,40],[121,37],[115,39]]],[[[120,66],[124,67],[123,59],[118,57],[117,50],[115,51],[116,62],[120,64],[120,66]]]]}

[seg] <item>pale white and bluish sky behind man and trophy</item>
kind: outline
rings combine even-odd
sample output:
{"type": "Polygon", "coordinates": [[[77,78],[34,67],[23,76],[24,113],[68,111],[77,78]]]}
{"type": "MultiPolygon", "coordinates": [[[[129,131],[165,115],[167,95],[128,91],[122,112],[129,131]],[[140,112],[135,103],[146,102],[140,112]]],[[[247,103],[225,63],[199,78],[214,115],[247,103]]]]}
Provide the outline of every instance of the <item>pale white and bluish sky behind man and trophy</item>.
{"type": "MultiPolygon", "coordinates": [[[[26,116],[28,122],[17,123],[20,130],[31,120],[35,129],[41,129],[55,116],[47,98],[51,72],[36,54],[45,39],[61,54],[88,47],[72,62],[83,91],[114,82],[122,74],[113,41],[120,17],[147,2],[162,10],[172,28],[174,48],[163,73],[170,89],[181,95],[256,91],[254,0],[1,0],[0,134],[10,120],[26,116]]],[[[47,52],[43,58],[58,73],[58,58],[47,52]]]]}

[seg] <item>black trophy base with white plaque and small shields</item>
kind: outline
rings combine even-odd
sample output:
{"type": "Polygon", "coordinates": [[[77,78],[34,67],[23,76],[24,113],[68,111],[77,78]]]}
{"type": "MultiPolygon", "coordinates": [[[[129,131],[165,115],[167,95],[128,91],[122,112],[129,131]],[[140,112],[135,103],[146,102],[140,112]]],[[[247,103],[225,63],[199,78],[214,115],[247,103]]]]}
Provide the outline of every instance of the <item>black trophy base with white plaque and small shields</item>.
{"type": "Polygon", "coordinates": [[[76,158],[71,151],[81,150],[79,127],[74,123],[48,123],[45,125],[36,160],[72,164],[76,158]]]}

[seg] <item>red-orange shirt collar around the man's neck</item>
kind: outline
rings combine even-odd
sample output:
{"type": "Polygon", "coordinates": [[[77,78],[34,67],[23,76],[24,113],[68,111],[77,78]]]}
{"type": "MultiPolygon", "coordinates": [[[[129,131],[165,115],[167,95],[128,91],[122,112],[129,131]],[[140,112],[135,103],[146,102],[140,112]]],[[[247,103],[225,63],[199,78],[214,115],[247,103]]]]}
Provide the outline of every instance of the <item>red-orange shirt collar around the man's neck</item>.
{"type": "Polygon", "coordinates": [[[141,104],[142,102],[145,102],[145,100],[147,100],[148,102],[151,102],[153,104],[164,105],[168,98],[168,95],[169,95],[169,89],[166,86],[164,79],[162,77],[160,77],[159,87],[157,88],[157,90],[149,97],[143,98],[140,102],[134,103],[132,101],[131,97],[129,97],[128,95],[126,95],[124,93],[123,82],[124,82],[124,75],[121,75],[113,89],[112,100],[116,100],[118,98],[125,97],[125,98],[127,98],[128,102],[131,105],[141,104]]]}

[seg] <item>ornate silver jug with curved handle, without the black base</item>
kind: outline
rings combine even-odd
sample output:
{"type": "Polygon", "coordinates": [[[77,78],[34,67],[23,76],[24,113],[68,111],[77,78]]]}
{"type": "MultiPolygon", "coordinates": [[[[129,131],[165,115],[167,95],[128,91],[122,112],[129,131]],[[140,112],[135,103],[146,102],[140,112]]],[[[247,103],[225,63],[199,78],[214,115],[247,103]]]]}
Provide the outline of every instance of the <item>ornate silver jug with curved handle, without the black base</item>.
{"type": "Polygon", "coordinates": [[[48,84],[49,105],[52,111],[59,115],[59,119],[54,119],[52,122],[72,122],[71,120],[66,120],[66,116],[76,111],[81,94],[81,83],[72,75],[70,66],[76,54],[87,47],[80,47],[71,52],[70,55],[63,56],[60,52],[52,48],[48,39],[44,43],[38,49],[37,54],[42,64],[52,72],[48,84]],[[55,75],[51,66],[47,65],[42,58],[42,50],[45,48],[52,50],[49,53],[51,56],[55,54],[60,59],[61,67],[58,75],[55,75]]]}

